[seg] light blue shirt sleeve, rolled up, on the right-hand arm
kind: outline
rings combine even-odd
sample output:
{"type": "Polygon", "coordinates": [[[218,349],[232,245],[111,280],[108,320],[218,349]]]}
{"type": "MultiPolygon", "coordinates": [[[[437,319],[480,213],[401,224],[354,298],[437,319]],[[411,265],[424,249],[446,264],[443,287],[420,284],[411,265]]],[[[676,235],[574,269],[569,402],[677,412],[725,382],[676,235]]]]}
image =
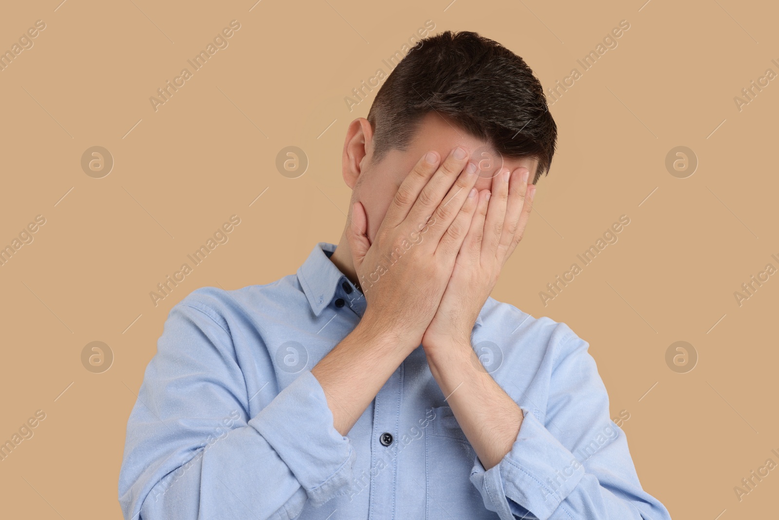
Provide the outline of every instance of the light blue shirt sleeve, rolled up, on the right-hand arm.
{"type": "Polygon", "coordinates": [[[641,488],[625,433],[609,417],[608,394],[588,347],[573,336],[561,348],[545,422],[538,410],[521,406],[524,418],[509,453],[486,471],[478,458],[474,462],[471,483],[503,520],[671,518],[641,488]]]}

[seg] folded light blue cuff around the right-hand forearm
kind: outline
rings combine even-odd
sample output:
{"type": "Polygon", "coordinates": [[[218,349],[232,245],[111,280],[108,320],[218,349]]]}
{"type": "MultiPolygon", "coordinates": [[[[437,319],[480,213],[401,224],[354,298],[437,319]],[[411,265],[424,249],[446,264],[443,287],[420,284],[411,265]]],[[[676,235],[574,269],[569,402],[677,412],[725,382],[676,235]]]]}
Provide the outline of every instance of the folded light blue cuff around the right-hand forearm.
{"type": "Polygon", "coordinates": [[[523,408],[522,413],[524,419],[511,451],[486,471],[477,458],[471,483],[485,506],[502,519],[514,518],[523,508],[546,520],[576,488],[584,467],[530,410],[523,408]],[[509,499],[515,504],[509,504],[509,499]]]}

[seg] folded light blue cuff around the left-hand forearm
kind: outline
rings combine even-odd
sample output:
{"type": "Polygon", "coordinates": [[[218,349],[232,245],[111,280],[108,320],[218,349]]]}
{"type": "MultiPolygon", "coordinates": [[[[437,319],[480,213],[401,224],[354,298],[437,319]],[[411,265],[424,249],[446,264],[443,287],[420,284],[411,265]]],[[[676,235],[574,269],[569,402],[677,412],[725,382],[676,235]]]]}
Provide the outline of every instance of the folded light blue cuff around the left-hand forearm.
{"type": "Polygon", "coordinates": [[[355,453],[333,426],[322,385],[310,370],[249,421],[289,467],[317,507],[351,487],[355,453]]]}

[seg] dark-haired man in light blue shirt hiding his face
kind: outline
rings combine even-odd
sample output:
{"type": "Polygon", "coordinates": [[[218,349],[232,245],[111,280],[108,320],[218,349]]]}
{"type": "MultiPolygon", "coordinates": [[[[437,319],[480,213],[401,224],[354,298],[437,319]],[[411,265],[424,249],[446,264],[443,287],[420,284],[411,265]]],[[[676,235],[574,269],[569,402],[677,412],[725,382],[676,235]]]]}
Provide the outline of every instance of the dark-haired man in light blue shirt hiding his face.
{"type": "Polygon", "coordinates": [[[347,130],[339,244],[171,310],[125,518],[670,518],[587,342],[489,298],[555,140],[522,58],[421,41],[347,130]]]}

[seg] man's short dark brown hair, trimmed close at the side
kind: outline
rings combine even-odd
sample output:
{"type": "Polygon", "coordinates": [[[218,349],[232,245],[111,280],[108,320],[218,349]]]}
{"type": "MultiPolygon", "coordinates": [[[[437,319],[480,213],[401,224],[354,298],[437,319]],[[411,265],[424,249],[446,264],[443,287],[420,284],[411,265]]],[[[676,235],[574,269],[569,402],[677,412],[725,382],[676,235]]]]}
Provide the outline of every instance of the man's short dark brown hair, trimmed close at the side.
{"type": "Polygon", "coordinates": [[[537,182],[555,154],[557,125],[544,90],[520,56],[480,34],[447,30],[419,41],[379,89],[368,112],[375,162],[407,150],[429,112],[456,122],[506,159],[538,159],[537,182]]]}

